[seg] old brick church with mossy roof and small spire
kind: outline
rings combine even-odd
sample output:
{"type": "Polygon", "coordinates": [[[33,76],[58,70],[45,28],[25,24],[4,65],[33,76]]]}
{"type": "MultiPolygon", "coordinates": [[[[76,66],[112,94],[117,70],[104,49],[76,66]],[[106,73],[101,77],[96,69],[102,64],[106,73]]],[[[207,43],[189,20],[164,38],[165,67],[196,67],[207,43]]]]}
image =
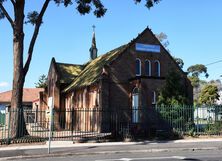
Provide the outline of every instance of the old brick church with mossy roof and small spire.
{"type": "Polygon", "coordinates": [[[81,116],[78,111],[76,114],[63,112],[101,110],[118,111],[114,118],[118,122],[142,123],[146,128],[157,129],[152,109],[156,105],[158,91],[172,69],[181,76],[185,96],[190,105],[193,103],[193,87],[187,74],[149,28],[128,44],[101,56],[97,56],[97,52],[94,32],[87,63],[66,64],[52,58],[48,86],[41,94],[39,108],[47,109],[47,99],[53,97],[55,120],[60,122],[58,128],[70,128],[74,126],[71,124],[74,120],[75,129],[103,131],[110,126],[104,122],[111,119],[105,112],[85,112],[81,116]],[[143,109],[149,109],[149,112],[143,112],[143,109]]]}

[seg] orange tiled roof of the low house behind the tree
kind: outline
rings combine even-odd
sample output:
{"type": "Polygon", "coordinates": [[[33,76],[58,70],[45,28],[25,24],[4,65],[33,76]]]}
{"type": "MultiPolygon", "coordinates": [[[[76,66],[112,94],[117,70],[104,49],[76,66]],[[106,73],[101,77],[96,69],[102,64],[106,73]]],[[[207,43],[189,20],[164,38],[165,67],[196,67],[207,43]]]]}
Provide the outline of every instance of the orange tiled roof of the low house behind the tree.
{"type": "MultiPolygon", "coordinates": [[[[44,91],[43,88],[24,88],[23,89],[23,102],[32,102],[39,98],[39,92],[44,91]]],[[[11,102],[12,91],[0,93],[0,103],[11,102]]]]}

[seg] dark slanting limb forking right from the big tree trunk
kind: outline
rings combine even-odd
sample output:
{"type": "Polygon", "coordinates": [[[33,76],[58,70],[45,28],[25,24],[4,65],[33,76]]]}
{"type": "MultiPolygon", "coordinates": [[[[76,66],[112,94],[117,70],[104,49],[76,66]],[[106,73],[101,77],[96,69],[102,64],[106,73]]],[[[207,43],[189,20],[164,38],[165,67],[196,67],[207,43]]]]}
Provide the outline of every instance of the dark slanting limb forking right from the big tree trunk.
{"type": "Polygon", "coordinates": [[[38,33],[39,33],[39,28],[42,24],[42,18],[44,16],[44,13],[48,7],[48,4],[49,4],[50,0],[45,0],[43,6],[42,6],[42,9],[40,11],[40,14],[38,16],[38,19],[36,21],[36,25],[35,25],[35,29],[34,29],[34,33],[32,35],[32,39],[30,41],[30,44],[29,44],[29,49],[28,49],[28,58],[26,60],[26,63],[25,63],[25,66],[24,66],[24,76],[27,74],[28,72],[28,69],[29,69],[29,65],[30,65],[30,62],[32,60],[32,54],[33,54],[33,49],[34,49],[34,46],[35,46],[35,42],[36,42],[36,39],[37,39],[37,36],[38,36],[38,33]]]}

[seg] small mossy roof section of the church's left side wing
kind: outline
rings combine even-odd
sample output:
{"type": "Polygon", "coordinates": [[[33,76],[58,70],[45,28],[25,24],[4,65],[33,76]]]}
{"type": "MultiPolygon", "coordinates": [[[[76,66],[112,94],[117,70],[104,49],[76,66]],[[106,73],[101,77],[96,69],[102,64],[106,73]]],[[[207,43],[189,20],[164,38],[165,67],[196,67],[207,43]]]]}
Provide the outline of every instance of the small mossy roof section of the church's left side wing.
{"type": "Polygon", "coordinates": [[[60,83],[71,83],[82,71],[83,65],[56,63],[60,83]]]}

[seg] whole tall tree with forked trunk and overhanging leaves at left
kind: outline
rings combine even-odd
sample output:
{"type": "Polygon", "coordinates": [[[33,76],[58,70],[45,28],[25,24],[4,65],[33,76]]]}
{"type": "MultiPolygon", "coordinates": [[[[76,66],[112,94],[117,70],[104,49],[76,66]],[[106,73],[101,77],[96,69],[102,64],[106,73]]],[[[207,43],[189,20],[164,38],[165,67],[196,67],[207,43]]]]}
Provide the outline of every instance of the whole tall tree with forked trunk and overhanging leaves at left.
{"type": "MultiPolygon", "coordinates": [[[[140,3],[141,0],[134,0],[135,3],[140,3]]],[[[153,7],[155,3],[160,0],[145,0],[147,8],[153,7]]],[[[65,7],[75,4],[77,11],[82,14],[88,14],[93,10],[96,17],[102,17],[107,9],[104,7],[101,0],[44,0],[39,12],[33,11],[25,13],[26,0],[0,0],[0,19],[6,18],[11,25],[13,31],[13,85],[12,85],[12,98],[11,108],[19,109],[19,113],[14,113],[11,117],[12,137],[21,137],[27,134],[26,130],[19,130],[25,128],[22,95],[25,77],[29,70],[32,60],[32,54],[35,46],[36,39],[39,34],[39,29],[43,22],[43,17],[49,4],[64,5],[65,7]],[[11,3],[12,9],[7,11],[5,3],[11,3]],[[10,15],[13,13],[14,17],[10,15]],[[27,20],[25,21],[25,15],[27,20]],[[33,35],[28,45],[28,51],[24,51],[24,24],[30,23],[34,26],[33,35]],[[27,53],[27,60],[23,62],[24,53],[27,53]],[[21,120],[20,123],[18,120],[21,120]]]]}

